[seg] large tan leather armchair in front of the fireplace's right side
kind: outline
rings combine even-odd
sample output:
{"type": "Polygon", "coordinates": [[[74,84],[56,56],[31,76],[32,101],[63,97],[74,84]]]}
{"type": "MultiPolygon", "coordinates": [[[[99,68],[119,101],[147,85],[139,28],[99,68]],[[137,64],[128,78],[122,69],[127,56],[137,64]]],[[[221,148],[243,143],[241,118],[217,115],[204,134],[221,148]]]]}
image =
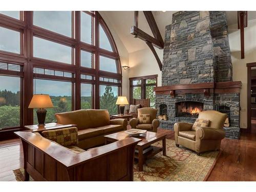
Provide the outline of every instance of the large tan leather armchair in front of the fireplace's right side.
{"type": "Polygon", "coordinates": [[[219,150],[221,140],[225,137],[223,125],[227,114],[218,111],[203,111],[199,113],[198,119],[210,120],[207,127],[197,127],[191,130],[193,124],[179,122],[174,124],[176,146],[182,145],[197,152],[219,150]]]}

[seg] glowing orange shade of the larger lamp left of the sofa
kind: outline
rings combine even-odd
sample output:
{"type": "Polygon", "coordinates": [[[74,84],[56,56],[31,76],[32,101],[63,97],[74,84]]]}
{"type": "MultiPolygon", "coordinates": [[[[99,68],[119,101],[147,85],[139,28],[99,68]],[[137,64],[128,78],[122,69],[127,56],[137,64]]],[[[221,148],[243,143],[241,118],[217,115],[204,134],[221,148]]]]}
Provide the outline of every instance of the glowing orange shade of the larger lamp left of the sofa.
{"type": "Polygon", "coordinates": [[[30,101],[29,108],[53,108],[52,100],[49,95],[35,94],[30,101]]]}

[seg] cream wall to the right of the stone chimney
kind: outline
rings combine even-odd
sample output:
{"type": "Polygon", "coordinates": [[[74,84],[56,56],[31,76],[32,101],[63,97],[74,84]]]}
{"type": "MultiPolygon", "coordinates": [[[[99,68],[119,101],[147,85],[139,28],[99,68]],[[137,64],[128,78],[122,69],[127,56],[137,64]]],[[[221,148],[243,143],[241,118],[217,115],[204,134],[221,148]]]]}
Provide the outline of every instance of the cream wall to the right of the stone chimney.
{"type": "Polygon", "coordinates": [[[228,39],[233,65],[233,81],[242,81],[241,118],[242,128],[247,127],[247,67],[246,63],[256,61],[256,19],[248,21],[244,30],[245,58],[241,59],[240,30],[237,24],[228,26],[228,39]]]}

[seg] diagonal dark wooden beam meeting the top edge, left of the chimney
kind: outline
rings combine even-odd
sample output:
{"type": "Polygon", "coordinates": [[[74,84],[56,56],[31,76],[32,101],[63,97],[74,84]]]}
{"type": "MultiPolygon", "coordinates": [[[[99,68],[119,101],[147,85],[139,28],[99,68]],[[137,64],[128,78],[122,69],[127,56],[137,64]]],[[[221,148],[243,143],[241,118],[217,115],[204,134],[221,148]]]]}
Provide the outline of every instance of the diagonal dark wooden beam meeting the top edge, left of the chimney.
{"type": "Polygon", "coordinates": [[[150,26],[150,29],[151,29],[154,37],[160,41],[160,44],[163,47],[164,46],[163,38],[162,38],[162,35],[157,27],[157,23],[156,23],[156,20],[154,18],[152,11],[143,11],[143,13],[146,17],[147,23],[150,26]]]}

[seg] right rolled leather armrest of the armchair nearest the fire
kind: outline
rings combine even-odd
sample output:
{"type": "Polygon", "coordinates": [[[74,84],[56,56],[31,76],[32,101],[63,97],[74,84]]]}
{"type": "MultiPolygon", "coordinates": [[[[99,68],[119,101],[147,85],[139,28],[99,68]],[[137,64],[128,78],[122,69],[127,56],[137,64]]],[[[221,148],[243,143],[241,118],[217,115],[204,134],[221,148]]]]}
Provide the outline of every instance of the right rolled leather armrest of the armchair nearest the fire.
{"type": "Polygon", "coordinates": [[[212,127],[198,127],[196,139],[201,140],[222,140],[225,138],[225,131],[212,127]]]}

